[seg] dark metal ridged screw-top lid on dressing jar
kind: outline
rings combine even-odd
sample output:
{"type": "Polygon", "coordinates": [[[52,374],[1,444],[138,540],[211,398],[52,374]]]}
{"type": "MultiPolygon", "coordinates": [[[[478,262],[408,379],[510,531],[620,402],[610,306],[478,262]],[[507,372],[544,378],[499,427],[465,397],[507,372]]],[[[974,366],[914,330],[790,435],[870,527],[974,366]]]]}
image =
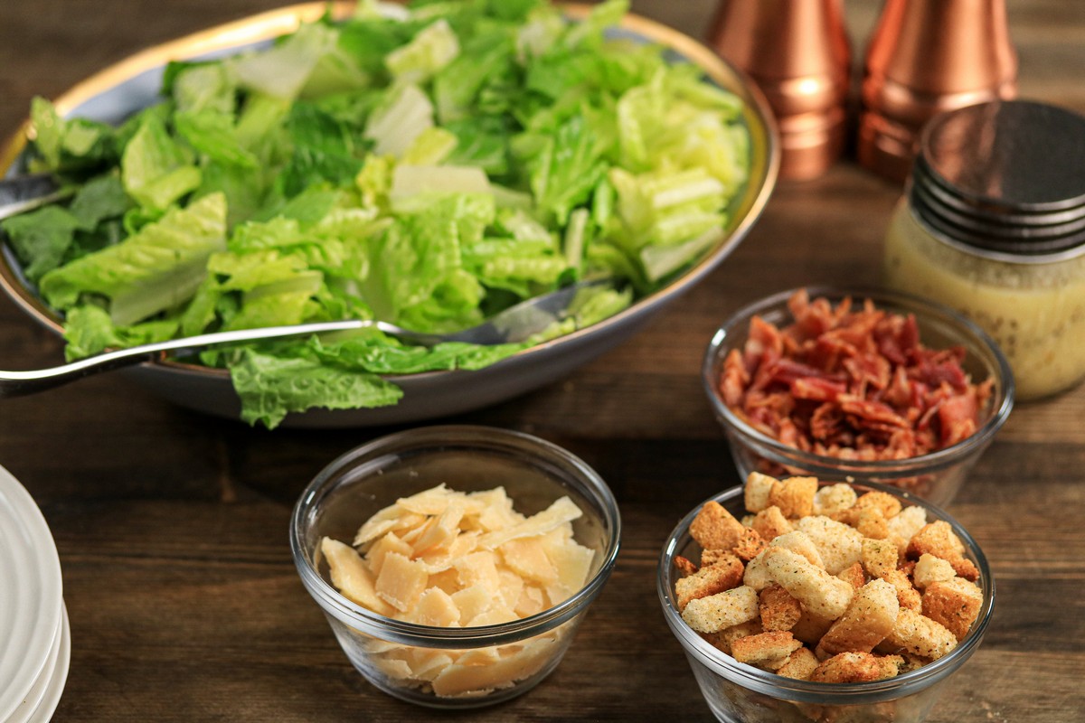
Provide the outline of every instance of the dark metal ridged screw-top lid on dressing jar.
{"type": "Polygon", "coordinates": [[[1085,247],[1085,117],[1031,101],[935,116],[909,196],[931,228],[980,251],[1076,253],[1085,247]]]}

